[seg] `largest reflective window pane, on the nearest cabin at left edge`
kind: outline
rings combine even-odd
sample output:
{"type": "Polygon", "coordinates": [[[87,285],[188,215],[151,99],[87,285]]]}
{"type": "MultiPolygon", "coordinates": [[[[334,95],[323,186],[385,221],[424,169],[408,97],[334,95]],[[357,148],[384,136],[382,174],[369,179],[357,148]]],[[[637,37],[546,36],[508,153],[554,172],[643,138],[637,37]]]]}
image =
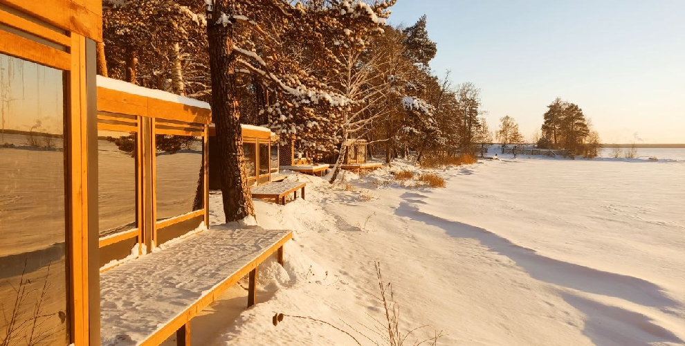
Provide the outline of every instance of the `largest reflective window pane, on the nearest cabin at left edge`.
{"type": "Polygon", "coordinates": [[[69,344],[64,72],[0,53],[0,344],[69,344]]]}

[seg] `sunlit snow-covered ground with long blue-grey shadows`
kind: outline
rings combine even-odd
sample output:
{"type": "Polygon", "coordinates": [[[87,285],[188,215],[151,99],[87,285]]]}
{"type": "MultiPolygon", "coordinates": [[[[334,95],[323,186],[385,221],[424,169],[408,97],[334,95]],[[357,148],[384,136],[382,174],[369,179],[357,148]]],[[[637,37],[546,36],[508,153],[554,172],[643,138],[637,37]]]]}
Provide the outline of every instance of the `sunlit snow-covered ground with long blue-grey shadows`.
{"type": "Polygon", "coordinates": [[[685,163],[503,158],[437,173],[447,188],[385,185],[387,169],[347,174],[354,191],[289,176],[307,200],[256,202],[259,224],[296,232],[285,268],[260,268],[255,307],[235,286],[194,319],[194,344],[356,345],[318,322],[274,327],[276,312],[383,344],[378,261],[405,331],[428,325],[411,345],[435,330],[439,345],[685,345],[685,163]]]}

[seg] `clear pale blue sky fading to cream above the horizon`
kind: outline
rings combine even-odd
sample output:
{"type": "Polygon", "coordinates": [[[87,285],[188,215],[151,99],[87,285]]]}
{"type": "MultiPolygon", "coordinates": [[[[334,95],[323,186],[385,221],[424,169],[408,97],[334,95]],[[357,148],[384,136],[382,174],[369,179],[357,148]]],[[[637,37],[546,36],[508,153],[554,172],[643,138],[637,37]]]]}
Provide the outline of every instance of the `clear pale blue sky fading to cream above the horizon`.
{"type": "Polygon", "coordinates": [[[685,143],[685,0],[398,0],[390,24],[423,14],[432,69],[482,89],[492,128],[529,137],[560,97],[605,143],[685,143]]]}

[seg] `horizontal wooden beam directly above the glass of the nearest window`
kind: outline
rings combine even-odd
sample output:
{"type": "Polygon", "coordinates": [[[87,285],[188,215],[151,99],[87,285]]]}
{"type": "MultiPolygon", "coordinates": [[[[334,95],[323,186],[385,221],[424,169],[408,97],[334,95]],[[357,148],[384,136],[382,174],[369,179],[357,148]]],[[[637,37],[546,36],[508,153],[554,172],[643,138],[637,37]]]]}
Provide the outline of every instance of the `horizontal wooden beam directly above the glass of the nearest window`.
{"type": "Polygon", "coordinates": [[[58,51],[55,48],[44,46],[4,30],[0,30],[0,51],[63,71],[69,71],[72,66],[69,53],[58,51]]]}

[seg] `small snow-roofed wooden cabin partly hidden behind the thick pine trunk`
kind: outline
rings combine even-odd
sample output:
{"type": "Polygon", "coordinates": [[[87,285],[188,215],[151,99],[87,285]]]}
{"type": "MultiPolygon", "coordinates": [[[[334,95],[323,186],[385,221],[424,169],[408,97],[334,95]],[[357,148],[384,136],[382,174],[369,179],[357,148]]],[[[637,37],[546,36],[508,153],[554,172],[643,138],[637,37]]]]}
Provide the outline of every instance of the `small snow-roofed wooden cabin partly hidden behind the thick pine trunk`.
{"type": "MultiPolygon", "coordinates": [[[[243,152],[245,170],[250,185],[264,185],[271,181],[281,181],[284,176],[279,174],[278,138],[270,129],[255,125],[241,125],[243,136],[243,152]]],[[[217,148],[217,133],[214,125],[209,127],[209,188],[221,189],[219,181],[219,149],[217,148]]]]}

